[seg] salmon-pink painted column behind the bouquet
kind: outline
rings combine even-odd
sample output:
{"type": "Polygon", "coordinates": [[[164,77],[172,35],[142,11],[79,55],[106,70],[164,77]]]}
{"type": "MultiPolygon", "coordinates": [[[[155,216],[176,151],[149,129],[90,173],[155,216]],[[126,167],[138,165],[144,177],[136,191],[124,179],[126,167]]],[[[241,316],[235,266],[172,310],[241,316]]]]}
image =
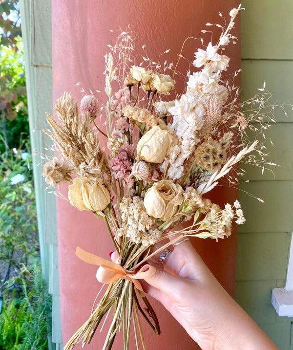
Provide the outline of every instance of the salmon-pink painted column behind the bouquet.
{"type": "MultiPolygon", "coordinates": [[[[188,36],[201,37],[200,30],[206,22],[219,22],[219,11],[229,16],[229,10],[238,6],[235,0],[53,0],[53,97],[60,97],[64,90],[71,91],[77,101],[83,93],[104,90],[104,55],[107,44],[114,44],[119,28],[131,24],[137,47],[146,44],[148,55],[157,60],[166,49],[168,62],[176,62],[183,41],[188,36]],[[113,33],[110,32],[113,30],[113,33]],[[80,86],[76,86],[81,82],[80,86]]],[[[239,21],[239,20],[238,20],[239,21]]],[[[239,22],[236,24],[239,36],[239,22]]],[[[206,37],[208,41],[209,38],[206,37]]],[[[190,40],[183,55],[190,62],[195,47],[200,41],[190,40]]],[[[230,71],[240,66],[240,44],[227,50],[231,57],[230,71]]],[[[165,58],[164,58],[165,59],[165,58]]],[[[186,62],[180,69],[188,69],[186,62]]],[[[180,83],[177,84],[180,91],[180,83]]],[[[97,95],[103,99],[102,95],[97,95]]],[[[63,187],[66,196],[67,189],[63,187]]],[[[222,189],[214,192],[212,199],[227,202],[237,192],[222,189]]],[[[91,213],[81,212],[68,201],[57,199],[58,244],[63,343],[68,340],[89,316],[92,303],[100,284],[95,279],[96,268],[75,257],[76,246],[108,258],[112,250],[104,222],[91,213]]],[[[194,240],[194,246],[209,268],[233,294],[235,280],[236,233],[228,240],[215,242],[194,240]]],[[[162,335],[154,336],[144,324],[147,349],[197,349],[184,329],[159,303],[153,301],[158,314],[162,335]]],[[[142,321],[144,322],[144,321],[142,321]]],[[[105,332],[96,333],[87,349],[101,349],[105,332]]],[[[122,348],[122,337],[118,336],[114,350],[122,348]]],[[[133,345],[134,346],[134,345],[133,345]]],[[[77,346],[76,349],[81,349],[77,346]]],[[[134,349],[134,348],[133,348],[134,349]]]]}

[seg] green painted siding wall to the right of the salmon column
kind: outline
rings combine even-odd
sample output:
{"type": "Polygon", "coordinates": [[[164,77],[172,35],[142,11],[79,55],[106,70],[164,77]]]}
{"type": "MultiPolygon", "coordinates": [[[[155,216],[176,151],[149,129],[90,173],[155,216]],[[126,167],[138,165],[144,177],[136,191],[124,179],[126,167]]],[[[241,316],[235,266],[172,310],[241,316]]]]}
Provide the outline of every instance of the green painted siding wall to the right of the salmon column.
{"type": "MultiPolygon", "coordinates": [[[[293,1],[242,4],[242,99],[265,81],[274,102],[293,102],[293,1]]],[[[236,300],[279,349],[293,350],[293,318],[279,317],[271,304],[272,288],[285,285],[293,231],[293,113],[275,116],[278,125],[267,132],[275,147],[268,152],[281,167],[273,169],[274,175],[246,168],[250,182],[240,187],[265,204],[240,191],[247,222],[238,234],[236,300]]]]}

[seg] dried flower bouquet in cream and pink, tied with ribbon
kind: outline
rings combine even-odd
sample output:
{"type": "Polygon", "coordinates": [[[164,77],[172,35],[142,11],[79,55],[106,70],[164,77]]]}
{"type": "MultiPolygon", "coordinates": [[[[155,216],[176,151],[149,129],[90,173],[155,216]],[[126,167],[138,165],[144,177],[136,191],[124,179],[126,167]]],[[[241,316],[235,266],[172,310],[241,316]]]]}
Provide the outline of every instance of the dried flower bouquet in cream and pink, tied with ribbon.
{"type": "Polygon", "coordinates": [[[264,86],[251,100],[238,103],[239,87],[233,79],[240,69],[231,81],[222,80],[230,61],[223,51],[228,44],[236,44],[231,30],[240,9],[239,5],[230,11],[225,26],[215,24],[221,28],[219,40],[195,52],[194,72],[188,73],[184,93],[175,92],[175,100],[165,101],[165,97],[174,90],[174,77],[182,76],[177,65],[162,67],[148,58],[134,65],[133,41],[124,32],[105,56],[106,131],[96,124],[101,109],[93,95],[84,96],[78,108],[72,96],[64,93],[56,104],[59,122],[47,116],[51,131],[44,132],[60,156],[44,165],[46,182],[57,189],[71,182],[70,203],[105,221],[119,255],[117,263],[112,263],[77,248],[82,260],[100,266],[97,279],[107,288],[100,297],[101,289],[89,319],[64,349],[89,343],[109,317],[103,350],[111,349],[121,329],[124,349],[129,349],[132,327],[136,348],[140,338],[146,349],[141,316],[160,334],[157,316],[139,282],[153,273],[146,263],[183,237],[218,240],[230,235],[233,221],[244,223],[237,200],[220,208],[204,197],[220,179],[235,186],[244,173],[237,165],[240,162],[262,171],[271,164],[265,160],[264,145],[265,131],[274,122],[270,93],[264,86]],[[114,92],[117,85],[120,89],[114,92]],[[255,133],[255,141],[249,141],[247,131],[255,133]],[[106,139],[107,153],[100,137],[106,139]],[[189,223],[179,229],[183,221],[189,223]]]}

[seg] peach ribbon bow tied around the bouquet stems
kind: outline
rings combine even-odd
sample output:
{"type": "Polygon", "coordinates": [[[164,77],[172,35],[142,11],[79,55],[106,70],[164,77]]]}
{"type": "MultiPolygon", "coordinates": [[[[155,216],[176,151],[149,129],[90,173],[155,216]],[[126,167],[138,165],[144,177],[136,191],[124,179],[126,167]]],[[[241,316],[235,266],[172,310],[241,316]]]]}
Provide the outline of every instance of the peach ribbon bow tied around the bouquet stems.
{"type": "Polygon", "coordinates": [[[110,284],[117,282],[121,278],[131,281],[135,287],[144,291],[142,285],[138,280],[143,280],[145,278],[151,277],[155,274],[156,268],[151,265],[143,265],[138,272],[134,273],[123,268],[117,263],[113,263],[109,260],[98,257],[97,255],[86,252],[84,249],[77,247],[75,255],[80,258],[85,263],[90,263],[92,265],[100,266],[97,271],[97,280],[103,284],[110,284]]]}

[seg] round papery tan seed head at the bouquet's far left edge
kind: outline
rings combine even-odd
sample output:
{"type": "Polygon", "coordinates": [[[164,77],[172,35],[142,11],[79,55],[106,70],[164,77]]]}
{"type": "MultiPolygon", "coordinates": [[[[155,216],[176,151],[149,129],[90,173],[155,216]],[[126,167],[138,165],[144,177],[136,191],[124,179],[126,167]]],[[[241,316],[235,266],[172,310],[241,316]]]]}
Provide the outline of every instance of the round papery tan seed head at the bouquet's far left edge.
{"type": "Polygon", "coordinates": [[[58,186],[71,181],[71,169],[60,160],[52,159],[43,166],[42,176],[50,186],[58,186]]]}

